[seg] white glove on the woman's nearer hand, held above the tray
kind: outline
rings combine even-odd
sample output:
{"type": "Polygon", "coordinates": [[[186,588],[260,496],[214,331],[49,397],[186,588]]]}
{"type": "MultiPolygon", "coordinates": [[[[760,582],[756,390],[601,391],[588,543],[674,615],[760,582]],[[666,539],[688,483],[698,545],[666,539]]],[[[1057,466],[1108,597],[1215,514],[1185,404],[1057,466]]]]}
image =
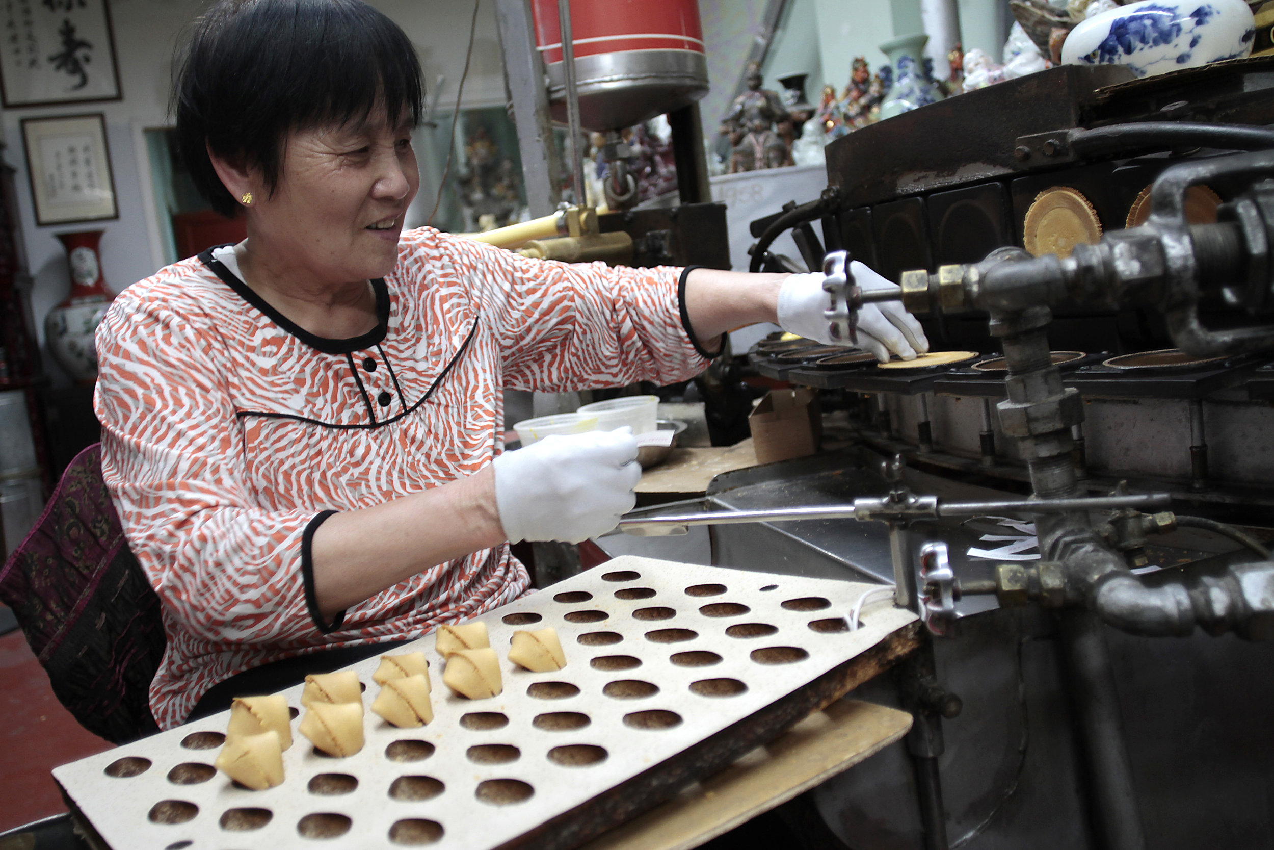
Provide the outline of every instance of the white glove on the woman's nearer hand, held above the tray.
{"type": "Polygon", "coordinates": [[[492,464],[505,535],[578,543],[605,534],[633,510],[641,480],[629,428],[552,435],[492,464]]]}

